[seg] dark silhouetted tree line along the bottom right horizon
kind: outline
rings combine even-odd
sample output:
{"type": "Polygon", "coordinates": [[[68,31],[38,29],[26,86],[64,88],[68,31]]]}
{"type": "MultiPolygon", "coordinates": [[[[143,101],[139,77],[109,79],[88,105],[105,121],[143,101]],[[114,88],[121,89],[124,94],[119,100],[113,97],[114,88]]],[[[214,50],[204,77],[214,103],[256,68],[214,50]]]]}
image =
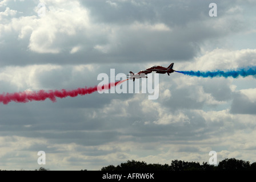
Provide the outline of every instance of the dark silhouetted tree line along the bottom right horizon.
{"type": "Polygon", "coordinates": [[[102,167],[101,171],[253,171],[256,170],[256,162],[251,163],[235,158],[226,158],[212,165],[207,162],[185,162],[184,160],[172,160],[171,164],[147,164],[135,160],[127,160],[117,166],[109,165],[102,167]]]}

